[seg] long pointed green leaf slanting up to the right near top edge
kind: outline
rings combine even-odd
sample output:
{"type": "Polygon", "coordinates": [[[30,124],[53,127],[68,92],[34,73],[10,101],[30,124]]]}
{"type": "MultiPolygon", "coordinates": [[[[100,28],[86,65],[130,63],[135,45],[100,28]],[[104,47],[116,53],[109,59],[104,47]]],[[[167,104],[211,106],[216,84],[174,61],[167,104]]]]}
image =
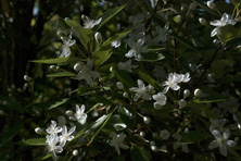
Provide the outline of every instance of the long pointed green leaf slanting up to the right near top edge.
{"type": "Polygon", "coordinates": [[[113,16],[115,16],[118,12],[120,12],[126,5],[122,5],[122,7],[116,7],[112,10],[106,11],[105,13],[103,13],[101,15],[102,20],[100,25],[98,25],[97,28],[94,28],[96,30],[98,30],[100,27],[102,27],[105,23],[107,23],[113,16]]]}

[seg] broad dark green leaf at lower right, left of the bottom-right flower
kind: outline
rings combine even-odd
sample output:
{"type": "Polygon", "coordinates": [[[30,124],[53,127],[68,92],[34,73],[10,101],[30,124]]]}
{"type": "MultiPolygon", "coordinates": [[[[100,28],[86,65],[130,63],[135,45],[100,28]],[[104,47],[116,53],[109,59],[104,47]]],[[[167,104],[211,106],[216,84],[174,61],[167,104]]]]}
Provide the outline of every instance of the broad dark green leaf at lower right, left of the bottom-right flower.
{"type": "Polygon", "coordinates": [[[198,132],[198,131],[190,131],[188,133],[183,133],[179,139],[179,144],[193,144],[196,141],[201,141],[206,138],[206,135],[198,132]]]}

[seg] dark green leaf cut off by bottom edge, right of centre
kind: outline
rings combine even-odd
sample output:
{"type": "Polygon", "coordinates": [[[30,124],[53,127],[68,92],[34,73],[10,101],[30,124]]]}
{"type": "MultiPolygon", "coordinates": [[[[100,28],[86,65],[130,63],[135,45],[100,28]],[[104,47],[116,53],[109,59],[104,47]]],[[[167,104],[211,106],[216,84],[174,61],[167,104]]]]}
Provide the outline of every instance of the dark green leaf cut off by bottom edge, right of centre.
{"type": "Polygon", "coordinates": [[[139,149],[136,146],[131,146],[130,154],[131,154],[132,161],[149,161],[150,160],[148,156],[144,153],[144,151],[139,149]]]}

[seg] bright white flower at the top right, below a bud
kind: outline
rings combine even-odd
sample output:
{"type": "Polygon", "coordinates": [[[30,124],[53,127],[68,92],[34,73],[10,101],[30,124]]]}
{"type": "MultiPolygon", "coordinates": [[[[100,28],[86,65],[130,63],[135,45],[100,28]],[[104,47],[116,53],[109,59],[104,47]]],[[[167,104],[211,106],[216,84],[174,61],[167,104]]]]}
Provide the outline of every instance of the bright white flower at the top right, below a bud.
{"type": "Polygon", "coordinates": [[[215,20],[210,23],[213,26],[216,26],[212,32],[211,32],[211,37],[214,37],[217,35],[217,29],[218,27],[226,26],[226,25],[234,25],[236,20],[232,20],[230,15],[227,13],[224,13],[220,20],[215,20]]]}

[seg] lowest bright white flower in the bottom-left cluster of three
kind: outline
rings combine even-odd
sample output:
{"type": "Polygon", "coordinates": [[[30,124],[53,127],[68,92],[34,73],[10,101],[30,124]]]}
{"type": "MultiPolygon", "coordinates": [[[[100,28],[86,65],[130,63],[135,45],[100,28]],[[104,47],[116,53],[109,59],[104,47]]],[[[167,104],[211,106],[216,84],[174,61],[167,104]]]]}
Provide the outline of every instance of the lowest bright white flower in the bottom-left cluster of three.
{"type": "Polygon", "coordinates": [[[52,158],[54,161],[56,161],[56,153],[60,153],[63,151],[63,146],[62,144],[60,144],[59,146],[56,145],[59,143],[59,137],[58,135],[47,135],[46,136],[47,140],[46,143],[48,143],[48,149],[49,149],[49,152],[52,153],[52,158]]]}

